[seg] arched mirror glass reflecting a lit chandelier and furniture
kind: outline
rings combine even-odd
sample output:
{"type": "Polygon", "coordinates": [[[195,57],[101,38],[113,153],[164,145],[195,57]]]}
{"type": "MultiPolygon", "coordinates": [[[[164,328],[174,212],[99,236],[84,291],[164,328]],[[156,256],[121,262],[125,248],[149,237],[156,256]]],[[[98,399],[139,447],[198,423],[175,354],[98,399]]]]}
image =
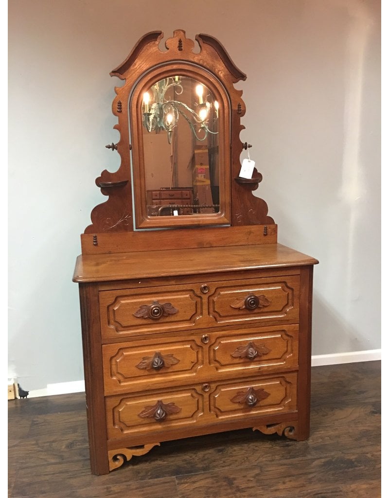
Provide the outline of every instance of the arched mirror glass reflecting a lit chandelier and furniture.
{"type": "Polygon", "coordinates": [[[204,84],[172,76],[143,94],[148,216],[218,213],[219,103],[204,84]]]}

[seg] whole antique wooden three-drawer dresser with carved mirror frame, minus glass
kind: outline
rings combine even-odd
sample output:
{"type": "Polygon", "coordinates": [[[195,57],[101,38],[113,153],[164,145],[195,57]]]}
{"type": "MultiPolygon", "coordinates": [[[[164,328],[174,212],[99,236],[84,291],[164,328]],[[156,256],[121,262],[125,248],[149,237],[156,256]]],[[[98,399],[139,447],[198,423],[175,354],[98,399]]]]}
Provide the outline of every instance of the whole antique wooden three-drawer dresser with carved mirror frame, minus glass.
{"type": "MultiPolygon", "coordinates": [[[[96,180],[109,200],[92,211],[73,276],[80,291],[91,469],[97,475],[167,440],[247,427],[297,441],[309,435],[312,277],[318,261],[277,243],[267,205],[252,194],[260,173],[239,177],[244,104],[233,82],[245,75],[208,35],[196,37],[199,60],[182,30],[166,41],[166,58],[158,48],[162,36],[145,35],[113,72],[126,80],[113,105],[122,165],[96,180]],[[150,191],[141,159],[146,138],[135,118],[144,109],[143,87],[162,77],[161,57],[168,67],[163,78],[193,78],[197,64],[197,78],[220,99],[217,119],[231,125],[231,142],[227,133],[217,137],[218,157],[227,161],[218,163],[217,213],[147,212],[150,191]],[[217,69],[214,82],[201,69],[210,71],[207,60],[217,69]],[[138,151],[132,182],[139,188],[131,187],[133,143],[138,151]]],[[[145,114],[144,126],[151,120],[145,114]]]]}

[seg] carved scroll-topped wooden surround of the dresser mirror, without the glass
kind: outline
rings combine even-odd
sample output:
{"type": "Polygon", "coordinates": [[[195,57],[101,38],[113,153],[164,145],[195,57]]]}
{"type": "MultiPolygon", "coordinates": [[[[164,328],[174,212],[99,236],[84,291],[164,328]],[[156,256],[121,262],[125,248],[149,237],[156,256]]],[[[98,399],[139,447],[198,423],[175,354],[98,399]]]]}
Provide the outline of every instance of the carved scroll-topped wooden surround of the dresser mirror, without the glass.
{"type": "Polygon", "coordinates": [[[96,185],[100,187],[103,195],[108,196],[108,200],[92,210],[92,224],[86,227],[84,234],[132,232],[145,227],[157,229],[274,223],[273,219],[267,216],[267,204],[253,195],[262,175],[254,169],[251,179],[239,176],[240,156],[243,147],[248,146],[247,142],[243,143],[240,139],[240,133],[244,129],[241,118],[245,115],[246,106],[242,100],[242,90],[235,89],[234,84],[246,80],[246,75],[235,66],[223,45],[210,35],[196,35],[195,39],[200,48],[197,52],[194,51],[194,41],[186,38],[182,29],[175,30],[173,37],[166,40],[166,50],[160,49],[163,36],[162,31],[151,31],[142,36],[127,59],[110,73],[111,76],[124,80],[123,86],[115,87],[117,95],[112,104],[112,112],[118,118],[114,129],[119,131],[120,139],[116,144],[106,145],[107,148],[118,151],[121,164],[116,172],[104,170],[96,178],[96,185]],[[138,119],[140,92],[153,78],[157,78],[157,75],[162,78],[163,75],[177,71],[195,75],[195,79],[203,80],[223,102],[224,126],[230,130],[230,133],[224,133],[219,144],[219,170],[223,170],[221,181],[224,187],[220,190],[224,191],[224,207],[218,214],[202,214],[196,218],[195,215],[159,217],[168,219],[168,222],[163,220],[155,223],[156,217],[153,217],[151,222],[151,217],[145,216],[144,172],[141,173],[140,160],[140,157],[143,157],[143,145],[142,140],[139,140],[141,124],[138,119]],[[130,121],[136,123],[131,129],[130,121]],[[136,210],[135,220],[133,192],[134,201],[140,206],[140,209],[136,210]]]}

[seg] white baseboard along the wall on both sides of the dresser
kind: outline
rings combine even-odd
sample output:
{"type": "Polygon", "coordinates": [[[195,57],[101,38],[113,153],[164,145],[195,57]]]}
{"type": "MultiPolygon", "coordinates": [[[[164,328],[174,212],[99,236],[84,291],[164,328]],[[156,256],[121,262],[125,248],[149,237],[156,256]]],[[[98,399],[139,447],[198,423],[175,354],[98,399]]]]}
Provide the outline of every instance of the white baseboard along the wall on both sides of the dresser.
{"type": "MultiPolygon", "coordinates": [[[[381,349],[371,351],[353,351],[350,353],[334,353],[330,355],[312,356],[312,367],[322,365],[339,365],[342,363],[371,362],[381,360],[381,349]]],[[[84,392],[84,380],[74,382],[59,382],[57,384],[47,384],[46,389],[36,389],[30,391],[29,398],[39,396],[53,396],[55,394],[70,394],[71,392],[84,392]]]]}

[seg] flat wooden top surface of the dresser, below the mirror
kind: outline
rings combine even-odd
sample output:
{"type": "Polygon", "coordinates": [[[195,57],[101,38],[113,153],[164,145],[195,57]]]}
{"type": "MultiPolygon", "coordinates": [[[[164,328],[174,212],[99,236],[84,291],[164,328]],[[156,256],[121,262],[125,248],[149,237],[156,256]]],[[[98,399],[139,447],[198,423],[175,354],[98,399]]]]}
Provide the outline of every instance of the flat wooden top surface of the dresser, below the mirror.
{"type": "Polygon", "coordinates": [[[73,281],[102,282],[317,263],[317,259],[281,244],[84,254],[77,257],[73,281]]]}

